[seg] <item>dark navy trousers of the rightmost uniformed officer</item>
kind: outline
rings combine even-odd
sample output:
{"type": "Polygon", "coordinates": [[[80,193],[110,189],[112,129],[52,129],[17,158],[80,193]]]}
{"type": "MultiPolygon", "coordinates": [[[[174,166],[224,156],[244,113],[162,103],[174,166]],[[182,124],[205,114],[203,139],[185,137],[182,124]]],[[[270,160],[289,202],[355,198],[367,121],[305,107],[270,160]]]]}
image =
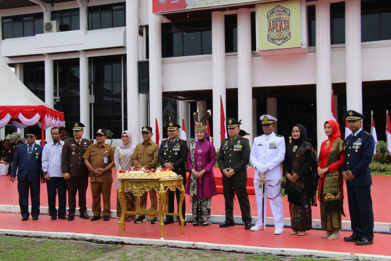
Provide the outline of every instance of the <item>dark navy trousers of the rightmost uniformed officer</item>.
{"type": "Polygon", "coordinates": [[[371,186],[346,186],[353,234],[373,239],[371,186]]]}

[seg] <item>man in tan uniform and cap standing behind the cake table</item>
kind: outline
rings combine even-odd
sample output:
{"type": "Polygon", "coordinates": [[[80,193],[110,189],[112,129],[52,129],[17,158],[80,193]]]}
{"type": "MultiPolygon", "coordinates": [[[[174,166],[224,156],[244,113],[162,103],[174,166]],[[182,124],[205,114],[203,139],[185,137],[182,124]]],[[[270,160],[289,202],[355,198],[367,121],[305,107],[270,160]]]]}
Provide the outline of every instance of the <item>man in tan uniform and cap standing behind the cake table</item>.
{"type": "MultiPolygon", "coordinates": [[[[141,134],[144,141],[136,145],[135,152],[133,153],[133,165],[139,169],[156,169],[156,166],[158,166],[159,145],[152,141],[152,127],[143,126],[141,128],[141,134]]],[[[147,194],[145,192],[140,197],[140,209],[147,207],[147,194]]],[[[158,209],[158,197],[154,189],[149,191],[149,198],[151,199],[151,207],[158,209]]],[[[145,216],[139,216],[136,218],[135,223],[145,221],[145,216]]],[[[156,224],[157,222],[157,218],[151,220],[151,224],[156,224]]]]}

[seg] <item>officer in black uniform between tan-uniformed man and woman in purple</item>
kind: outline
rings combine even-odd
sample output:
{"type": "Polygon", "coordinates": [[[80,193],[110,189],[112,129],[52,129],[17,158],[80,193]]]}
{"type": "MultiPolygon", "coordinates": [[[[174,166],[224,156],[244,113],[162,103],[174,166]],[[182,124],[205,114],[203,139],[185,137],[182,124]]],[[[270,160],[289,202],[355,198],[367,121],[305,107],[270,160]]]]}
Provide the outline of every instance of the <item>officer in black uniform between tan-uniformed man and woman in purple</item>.
{"type": "MultiPolygon", "coordinates": [[[[177,175],[181,175],[183,177],[183,186],[185,186],[186,184],[185,164],[187,160],[188,147],[187,147],[186,140],[178,138],[179,128],[181,128],[181,126],[176,122],[169,121],[167,123],[167,134],[169,138],[161,141],[158,159],[163,167],[166,167],[167,169],[172,169],[172,171],[174,171],[177,175]]],[[[174,195],[176,195],[176,203],[178,209],[180,194],[181,193],[179,189],[176,189],[175,194],[174,191],[169,191],[168,203],[169,203],[170,213],[174,212],[174,195]]],[[[183,199],[183,203],[182,203],[183,219],[185,219],[185,213],[186,213],[186,206],[185,206],[185,199],[183,199]]],[[[174,223],[174,217],[166,216],[164,225],[170,223],[174,223]]],[[[181,225],[181,222],[179,222],[179,225],[181,225]]]]}

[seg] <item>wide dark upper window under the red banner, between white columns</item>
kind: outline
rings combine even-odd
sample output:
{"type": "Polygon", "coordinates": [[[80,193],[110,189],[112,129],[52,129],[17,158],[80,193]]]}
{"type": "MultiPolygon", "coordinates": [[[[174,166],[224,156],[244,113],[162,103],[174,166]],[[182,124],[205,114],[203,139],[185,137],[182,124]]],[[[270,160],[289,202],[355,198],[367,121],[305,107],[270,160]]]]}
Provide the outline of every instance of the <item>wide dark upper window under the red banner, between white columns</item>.
{"type": "MultiPolygon", "coordinates": [[[[211,54],[211,29],[211,19],[162,23],[162,57],[211,54]]],[[[146,38],[148,38],[148,31],[146,38]]]]}

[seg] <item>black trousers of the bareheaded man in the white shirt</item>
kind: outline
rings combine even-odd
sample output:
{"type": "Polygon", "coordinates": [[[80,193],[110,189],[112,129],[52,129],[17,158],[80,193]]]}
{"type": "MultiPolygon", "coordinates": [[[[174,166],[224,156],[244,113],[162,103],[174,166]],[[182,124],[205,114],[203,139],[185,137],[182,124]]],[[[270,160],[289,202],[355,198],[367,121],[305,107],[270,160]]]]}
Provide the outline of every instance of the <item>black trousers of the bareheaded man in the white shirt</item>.
{"type": "Polygon", "coordinates": [[[46,181],[48,191],[49,215],[56,216],[56,196],[58,194],[58,214],[65,215],[66,211],[66,181],[63,177],[51,177],[46,181]]]}

